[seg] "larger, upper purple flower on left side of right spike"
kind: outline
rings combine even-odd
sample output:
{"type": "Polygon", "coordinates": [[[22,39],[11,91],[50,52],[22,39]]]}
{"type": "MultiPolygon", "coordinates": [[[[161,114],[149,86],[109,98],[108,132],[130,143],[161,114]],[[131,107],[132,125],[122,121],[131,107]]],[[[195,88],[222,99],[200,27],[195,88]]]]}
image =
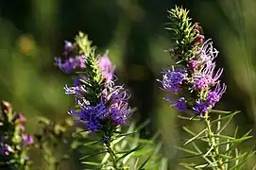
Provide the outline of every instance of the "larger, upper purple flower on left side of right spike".
{"type": "Polygon", "coordinates": [[[171,91],[173,93],[178,93],[183,80],[186,78],[187,74],[185,70],[175,70],[170,71],[166,69],[162,76],[162,90],[171,91]]]}

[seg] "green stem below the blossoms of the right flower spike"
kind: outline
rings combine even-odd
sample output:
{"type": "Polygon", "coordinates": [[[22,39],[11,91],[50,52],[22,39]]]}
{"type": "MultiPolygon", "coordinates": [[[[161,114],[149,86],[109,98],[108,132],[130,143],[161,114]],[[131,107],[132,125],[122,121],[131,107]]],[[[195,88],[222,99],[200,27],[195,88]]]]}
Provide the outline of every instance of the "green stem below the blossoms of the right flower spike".
{"type": "Polygon", "coordinates": [[[219,147],[216,144],[216,139],[214,138],[214,133],[211,128],[211,121],[209,120],[208,112],[205,113],[204,122],[205,122],[205,126],[207,127],[207,136],[209,138],[209,145],[210,147],[213,146],[213,156],[216,158],[218,169],[225,170],[225,166],[219,154],[219,147]]]}

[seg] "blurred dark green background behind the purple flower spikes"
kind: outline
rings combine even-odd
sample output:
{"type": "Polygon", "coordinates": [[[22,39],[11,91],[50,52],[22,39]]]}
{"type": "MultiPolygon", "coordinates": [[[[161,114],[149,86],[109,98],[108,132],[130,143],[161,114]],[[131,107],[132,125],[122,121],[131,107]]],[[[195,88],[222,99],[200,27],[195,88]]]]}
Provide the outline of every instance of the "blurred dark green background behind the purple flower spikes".
{"type": "MultiPolygon", "coordinates": [[[[37,131],[34,120],[39,115],[56,121],[66,117],[73,100],[62,87],[71,80],[53,62],[62,52],[64,40],[72,41],[83,31],[99,51],[110,49],[117,75],[132,93],[131,105],[138,108],[134,119],[152,120],[145,136],[161,130],[165,156],[175,169],[173,145],[179,122],[175,110],[162,101],[165,93],[156,81],[162,67],[172,63],[164,52],[172,45],[164,24],[167,9],[175,5],[191,10],[191,17],[201,23],[206,38],[212,38],[220,51],[216,60],[225,68],[222,79],[228,92],[216,108],[242,110],[232,126],[240,126],[241,133],[255,129],[254,0],[1,0],[0,99],[29,117],[31,133],[37,131]]],[[[253,142],[255,138],[247,148],[253,142]]],[[[254,161],[248,163],[248,169],[254,161]]]]}

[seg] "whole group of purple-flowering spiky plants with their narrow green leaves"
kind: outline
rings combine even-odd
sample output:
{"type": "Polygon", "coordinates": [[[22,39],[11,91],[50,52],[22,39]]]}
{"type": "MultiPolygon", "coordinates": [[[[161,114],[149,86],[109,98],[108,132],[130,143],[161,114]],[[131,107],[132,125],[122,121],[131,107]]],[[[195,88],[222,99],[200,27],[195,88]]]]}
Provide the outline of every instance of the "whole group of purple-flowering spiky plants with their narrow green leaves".
{"type": "MultiPolygon", "coordinates": [[[[242,169],[256,151],[240,151],[240,144],[252,137],[250,131],[242,137],[238,136],[238,127],[232,135],[225,131],[239,111],[213,110],[227,90],[220,81],[223,69],[216,68],[218,51],[212,40],[205,39],[201,26],[188,17],[186,9],[171,9],[169,19],[167,29],[173,32],[174,42],[169,53],[175,64],[164,68],[158,81],[162,91],[172,94],[164,100],[181,113],[178,117],[202,125],[197,131],[181,126],[189,138],[180,140],[185,141],[182,146],[176,146],[179,154],[188,154],[180,158],[185,162],[179,164],[186,169],[242,169]]],[[[55,65],[73,81],[63,87],[74,99],[74,105],[68,108],[70,116],[64,121],[41,117],[40,130],[28,135],[26,117],[12,110],[8,102],[2,102],[1,168],[29,169],[33,164],[30,148],[39,150],[49,170],[59,169],[73,151],[79,151],[79,161],[85,169],[168,168],[160,134],[151,139],[141,137],[147,122],[138,126],[129,120],[134,112],[128,104],[131,96],[124,84],[118,84],[110,52],[98,53],[92,43],[79,32],[74,42],[64,43],[63,53],[55,58],[55,65]]],[[[39,167],[42,168],[43,165],[39,167]]]]}

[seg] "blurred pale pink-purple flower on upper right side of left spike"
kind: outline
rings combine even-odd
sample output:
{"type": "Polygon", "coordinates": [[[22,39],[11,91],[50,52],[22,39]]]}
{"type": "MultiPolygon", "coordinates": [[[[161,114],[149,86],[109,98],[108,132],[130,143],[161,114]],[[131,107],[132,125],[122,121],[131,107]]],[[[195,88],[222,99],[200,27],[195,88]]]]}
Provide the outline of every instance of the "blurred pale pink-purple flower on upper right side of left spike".
{"type": "Polygon", "coordinates": [[[107,82],[111,81],[115,69],[115,66],[112,64],[108,56],[109,51],[106,51],[104,56],[98,57],[98,67],[107,82]]]}

